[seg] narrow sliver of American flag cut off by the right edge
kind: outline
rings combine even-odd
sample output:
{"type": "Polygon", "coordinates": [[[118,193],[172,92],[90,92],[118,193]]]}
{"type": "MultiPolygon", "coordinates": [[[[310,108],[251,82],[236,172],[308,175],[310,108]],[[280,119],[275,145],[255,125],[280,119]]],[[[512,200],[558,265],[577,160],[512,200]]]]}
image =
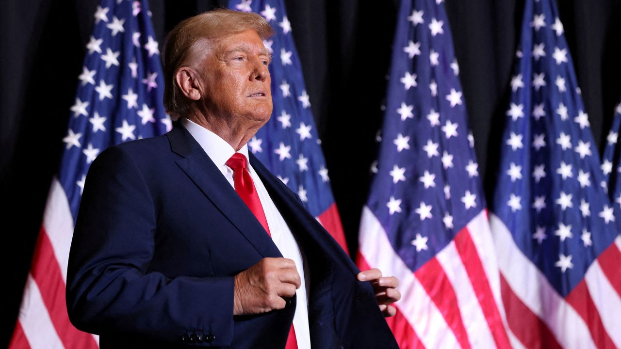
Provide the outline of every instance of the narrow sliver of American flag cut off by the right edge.
{"type": "MultiPolygon", "coordinates": [[[[621,207],[621,145],[619,142],[619,132],[621,132],[621,102],[615,107],[612,128],[606,137],[606,147],[604,148],[604,157],[602,158],[601,165],[610,199],[617,202],[621,207]]],[[[620,212],[620,210],[617,210],[615,214],[620,212]]]]}

